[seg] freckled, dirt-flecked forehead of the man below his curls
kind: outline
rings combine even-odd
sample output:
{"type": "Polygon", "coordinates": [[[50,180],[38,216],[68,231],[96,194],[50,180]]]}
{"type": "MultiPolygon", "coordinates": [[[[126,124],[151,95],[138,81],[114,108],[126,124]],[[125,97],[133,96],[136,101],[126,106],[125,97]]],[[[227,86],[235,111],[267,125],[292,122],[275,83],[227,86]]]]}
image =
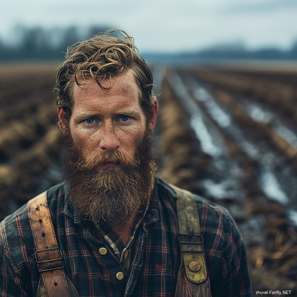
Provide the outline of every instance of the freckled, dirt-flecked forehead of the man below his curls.
{"type": "MultiPolygon", "coordinates": [[[[116,77],[106,78],[100,83],[108,90],[102,90],[93,79],[81,81],[83,86],[73,86],[74,106],[83,105],[84,102],[93,101],[94,104],[121,104],[121,102],[134,101],[140,105],[140,90],[130,72],[116,77]]],[[[90,102],[89,102],[90,103],[90,102]]]]}

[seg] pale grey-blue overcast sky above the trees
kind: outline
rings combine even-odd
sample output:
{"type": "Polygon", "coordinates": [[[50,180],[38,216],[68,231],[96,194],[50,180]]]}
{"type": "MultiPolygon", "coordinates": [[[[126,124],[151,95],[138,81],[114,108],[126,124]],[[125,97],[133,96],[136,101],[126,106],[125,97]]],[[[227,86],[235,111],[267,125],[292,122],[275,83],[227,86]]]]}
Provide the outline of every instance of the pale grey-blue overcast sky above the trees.
{"type": "Polygon", "coordinates": [[[140,53],[222,43],[288,49],[297,41],[297,0],[2,1],[0,36],[9,38],[18,24],[108,25],[134,37],[140,53]]]}

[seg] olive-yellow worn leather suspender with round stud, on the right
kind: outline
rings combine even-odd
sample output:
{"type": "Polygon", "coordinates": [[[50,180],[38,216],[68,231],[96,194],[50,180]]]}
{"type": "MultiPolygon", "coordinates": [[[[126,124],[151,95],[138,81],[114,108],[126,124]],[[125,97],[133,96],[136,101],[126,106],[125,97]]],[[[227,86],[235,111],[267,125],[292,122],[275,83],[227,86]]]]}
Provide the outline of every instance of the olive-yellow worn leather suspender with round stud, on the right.
{"type": "Polygon", "coordinates": [[[195,198],[187,190],[170,186],[178,196],[178,241],[183,262],[179,268],[176,296],[209,297],[210,283],[195,198]]]}

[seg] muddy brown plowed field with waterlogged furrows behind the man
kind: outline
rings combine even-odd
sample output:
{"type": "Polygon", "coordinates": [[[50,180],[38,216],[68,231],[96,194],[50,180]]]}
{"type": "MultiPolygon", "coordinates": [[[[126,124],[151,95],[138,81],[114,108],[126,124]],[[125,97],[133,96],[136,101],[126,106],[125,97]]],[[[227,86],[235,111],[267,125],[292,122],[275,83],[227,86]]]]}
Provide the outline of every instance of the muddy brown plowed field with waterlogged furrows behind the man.
{"type": "MultiPolygon", "coordinates": [[[[0,67],[0,216],[60,181],[54,64],[0,67]]],[[[152,68],[158,174],[229,209],[254,292],[297,283],[297,69],[152,68]]]]}

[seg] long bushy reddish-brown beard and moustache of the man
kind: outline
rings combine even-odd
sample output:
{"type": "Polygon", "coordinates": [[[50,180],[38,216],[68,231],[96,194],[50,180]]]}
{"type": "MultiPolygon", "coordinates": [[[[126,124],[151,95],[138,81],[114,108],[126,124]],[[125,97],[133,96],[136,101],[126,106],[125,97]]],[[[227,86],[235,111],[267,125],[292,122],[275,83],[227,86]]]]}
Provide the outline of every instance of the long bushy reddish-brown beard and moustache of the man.
{"type": "Polygon", "coordinates": [[[96,152],[84,159],[69,132],[64,143],[64,179],[80,217],[122,223],[133,214],[141,215],[149,203],[156,170],[149,130],[136,145],[134,157],[116,150],[96,152]],[[100,168],[107,162],[120,166],[100,168]]]}

